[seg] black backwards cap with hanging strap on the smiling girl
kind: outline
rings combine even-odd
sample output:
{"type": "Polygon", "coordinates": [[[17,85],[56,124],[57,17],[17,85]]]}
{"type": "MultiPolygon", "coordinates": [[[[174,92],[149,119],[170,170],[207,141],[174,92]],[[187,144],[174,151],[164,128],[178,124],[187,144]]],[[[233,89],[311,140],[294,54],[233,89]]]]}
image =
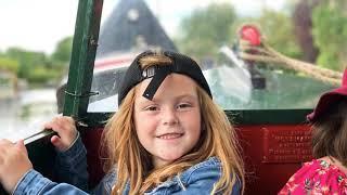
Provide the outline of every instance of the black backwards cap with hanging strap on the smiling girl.
{"type": "Polygon", "coordinates": [[[172,64],[164,66],[155,65],[142,69],[140,66],[140,58],[150,55],[158,55],[158,53],[155,53],[153,51],[145,51],[139,54],[133,60],[133,62],[127,69],[126,75],[123,78],[119,87],[118,106],[121,104],[121,101],[136,84],[140,83],[142,80],[147,78],[153,79],[149,83],[147,88],[144,90],[143,96],[149,100],[152,100],[155,92],[166,78],[166,76],[172,73],[182,74],[192,78],[201,88],[203,88],[206,91],[206,93],[210,98],[213,98],[208,83],[203,75],[203,72],[194,60],[187,55],[171,51],[164,51],[163,54],[169,57],[172,61],[172,64]]]}

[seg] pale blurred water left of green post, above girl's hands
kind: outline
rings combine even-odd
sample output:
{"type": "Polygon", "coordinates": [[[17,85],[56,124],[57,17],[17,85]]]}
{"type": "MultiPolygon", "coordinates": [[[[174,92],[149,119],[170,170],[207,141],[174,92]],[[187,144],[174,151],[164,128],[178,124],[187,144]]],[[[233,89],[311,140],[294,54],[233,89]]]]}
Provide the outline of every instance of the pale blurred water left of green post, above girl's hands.
{"type": "Polygon", "coordinates": [[[56,115],[55,89],[36,89],[0,100],[0,139],[16,141],[40,131],[56,115]]]}

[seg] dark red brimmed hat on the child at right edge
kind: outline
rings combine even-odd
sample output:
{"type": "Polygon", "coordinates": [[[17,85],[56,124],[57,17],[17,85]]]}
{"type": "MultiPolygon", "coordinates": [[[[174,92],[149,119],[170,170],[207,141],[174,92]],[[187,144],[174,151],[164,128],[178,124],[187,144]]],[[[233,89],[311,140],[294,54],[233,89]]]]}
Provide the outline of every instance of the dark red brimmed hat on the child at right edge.
{"type": "Polygon", "coordinates": [[[347,68],[344,72],[342,86],[330,92],[324,93],[318,101],[318,104],[313,113],[307,115],[307,120],[310,122],[317,121],[317,119],[324,114],[324,112],[335,102],[347,98],[347,68]]]}

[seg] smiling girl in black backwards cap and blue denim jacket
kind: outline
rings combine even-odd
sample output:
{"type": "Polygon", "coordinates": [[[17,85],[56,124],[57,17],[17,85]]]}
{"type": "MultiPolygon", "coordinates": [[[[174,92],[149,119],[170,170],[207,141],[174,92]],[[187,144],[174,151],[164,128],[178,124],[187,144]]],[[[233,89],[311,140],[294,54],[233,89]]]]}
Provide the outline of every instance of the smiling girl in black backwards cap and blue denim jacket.
{"type": "MultiPolygon", "coordinates": [[[[174,52],[144,52],[132,62],[118,92],[119,110],[103,134],[108,173],[95,194],[240,194],[243,162],[234,129],[213,102],[198,65],[174,52]]],[[[61,176],[86,190],[86,150],[68,117],[48,123],[59,151],[61,176]],[[82,166],[80,166],[82,165],[82,166]],[[66,178],[66,177],[65,177],[66,178]]],[[[2,141],[7,142],[7,141],[2,141]]],[[[33,170],[22,143],[4,143],[0,181],[14,194],[82,194],[56,184],[33,170]],[[9,160],[4,160],[9,159],[9,160]],[[10,166],[15,159],[13,170],[10,166]],[[2,162],[4,161],[4,162],[2,162]],[[23,168],[22,168],[23,167],[23,168]],[[7,178],[5,176],[13,174],[7,178]]]]}

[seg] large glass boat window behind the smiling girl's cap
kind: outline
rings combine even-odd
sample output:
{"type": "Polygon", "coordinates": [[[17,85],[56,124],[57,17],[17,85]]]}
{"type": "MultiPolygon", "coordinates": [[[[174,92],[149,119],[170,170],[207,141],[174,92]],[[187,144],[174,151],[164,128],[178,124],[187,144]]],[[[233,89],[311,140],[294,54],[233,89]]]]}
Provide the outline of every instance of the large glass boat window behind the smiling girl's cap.
{"type": "Polygon", "coordinates": [[[196,60],[223,109],[312,108],[321,93],[339,84],[344,62],[324,48],[337,52],[344,44],[327,46],[321,23],[337,29],[334,25],[340,23],[330,22],[326,13],[335,10],[342,21],[346,15],[338,3],[305,2],[105,1],[92,82],[99,95],[90,99],[88,112],[117,109],[124,73],[146,49],[174,50],[196,60]],[[336,75],[322,76],[323,68],[336,75]]]}

